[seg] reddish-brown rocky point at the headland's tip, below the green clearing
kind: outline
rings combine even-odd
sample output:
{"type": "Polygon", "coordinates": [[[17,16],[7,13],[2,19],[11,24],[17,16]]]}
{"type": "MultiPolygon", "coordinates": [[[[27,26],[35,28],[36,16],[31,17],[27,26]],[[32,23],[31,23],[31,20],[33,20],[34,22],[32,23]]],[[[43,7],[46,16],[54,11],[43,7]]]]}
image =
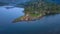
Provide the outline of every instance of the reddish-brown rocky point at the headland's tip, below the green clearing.
{"type": "Polygon", "coordinates": [[[39,16],[36,16],[36,17],[32,17],[29,14],[26,14],[26,15],[24,15],[22,17],[19,17],[19,18],[15,19],[13,21],[13,23],[15,23],[15,22],[21,22],[21,21],[36,21],[36,20],[39,20],[40,18],[42,18],[43,16],[44,15],[39,15],[39,16]]]}

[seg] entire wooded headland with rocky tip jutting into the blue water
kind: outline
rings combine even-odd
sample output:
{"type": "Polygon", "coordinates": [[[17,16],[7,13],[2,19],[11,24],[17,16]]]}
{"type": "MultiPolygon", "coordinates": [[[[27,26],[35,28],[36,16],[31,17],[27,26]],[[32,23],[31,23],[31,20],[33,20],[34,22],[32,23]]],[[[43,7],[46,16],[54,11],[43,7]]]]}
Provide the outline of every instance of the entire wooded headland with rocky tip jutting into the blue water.
{"type": "Polygon", "coordinates": [[[46,15],[60,13],[60,4],[48,2],[47,0],[31,0],[19,5],[25,8],[23,11],[25,15],[16,18],[13,22],[35,21],[46,15]]]}

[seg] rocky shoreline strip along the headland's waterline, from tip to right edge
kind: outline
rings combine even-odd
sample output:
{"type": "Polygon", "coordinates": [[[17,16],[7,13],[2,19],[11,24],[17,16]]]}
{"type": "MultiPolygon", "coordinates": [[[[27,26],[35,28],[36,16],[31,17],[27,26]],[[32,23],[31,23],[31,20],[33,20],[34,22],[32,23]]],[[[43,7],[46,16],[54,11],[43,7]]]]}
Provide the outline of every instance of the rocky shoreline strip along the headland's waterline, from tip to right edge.
{"type": "Polygon", "coordinates": [[[22,22],[22,21],[36,21],[36,20],[40,20],[41,18],[43,18],[44,16],[46,15],[55,15],[55,14],[59,14],[59,13],[51,13],[51,14],[40,14],[39,16],[34,16],[32,17],[31,15],[29,14],[25,14],[24,16],[21,16],[19,18],[16,18],[13,23],[16,23],[16,22],[22,22]]]}

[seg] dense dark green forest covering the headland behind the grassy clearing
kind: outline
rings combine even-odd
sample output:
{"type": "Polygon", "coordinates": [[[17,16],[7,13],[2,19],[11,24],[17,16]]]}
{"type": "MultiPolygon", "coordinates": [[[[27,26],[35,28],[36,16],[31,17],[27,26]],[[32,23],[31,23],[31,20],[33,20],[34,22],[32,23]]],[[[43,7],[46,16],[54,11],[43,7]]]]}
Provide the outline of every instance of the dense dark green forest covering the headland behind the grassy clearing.
{"type": "Polygon", "coordinates": [[[31,0],[21,4],[21,6],[25,8],[24,12],[60,12],[60,4],[48,2],[47,0],[31,0]]]}

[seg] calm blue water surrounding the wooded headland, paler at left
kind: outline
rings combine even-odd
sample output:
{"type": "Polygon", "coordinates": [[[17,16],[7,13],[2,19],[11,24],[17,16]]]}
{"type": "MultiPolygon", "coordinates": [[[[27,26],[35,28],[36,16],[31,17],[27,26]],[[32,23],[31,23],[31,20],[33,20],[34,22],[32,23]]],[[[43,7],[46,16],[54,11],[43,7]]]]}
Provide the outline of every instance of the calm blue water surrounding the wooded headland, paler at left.
{"type": "Polygon", "coordinates": [[[34,22],[19,22],[12,23],[12,20],[18,18],[24,13],[23,8],[6,9],[0,7],[0,33],[49,33],[60,31],[60,14],[45,16],[40,20],[34,22]]]}

